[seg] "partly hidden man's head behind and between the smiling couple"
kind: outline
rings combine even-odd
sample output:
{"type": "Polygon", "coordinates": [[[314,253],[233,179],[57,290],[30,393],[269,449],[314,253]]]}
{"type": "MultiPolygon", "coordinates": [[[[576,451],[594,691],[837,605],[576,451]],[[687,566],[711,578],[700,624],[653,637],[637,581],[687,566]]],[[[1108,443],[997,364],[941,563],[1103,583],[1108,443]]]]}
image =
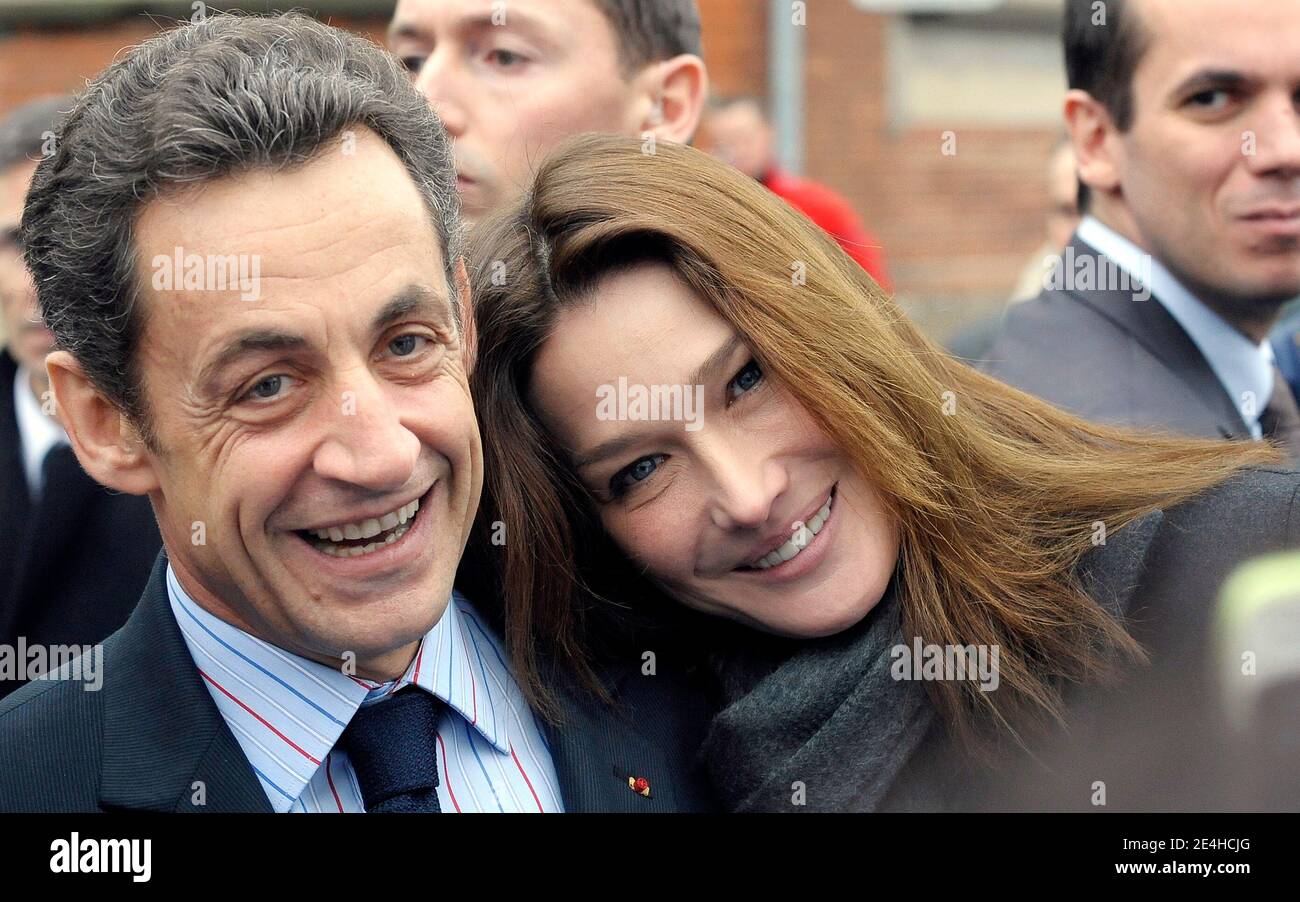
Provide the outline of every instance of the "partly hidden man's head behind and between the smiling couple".
{"type": "Polygon", "coordinates": [[[566,138],[689,142],[708,94],[696,0],[399,0],[389,49],[455,142],[471,225],[566,138]]]}

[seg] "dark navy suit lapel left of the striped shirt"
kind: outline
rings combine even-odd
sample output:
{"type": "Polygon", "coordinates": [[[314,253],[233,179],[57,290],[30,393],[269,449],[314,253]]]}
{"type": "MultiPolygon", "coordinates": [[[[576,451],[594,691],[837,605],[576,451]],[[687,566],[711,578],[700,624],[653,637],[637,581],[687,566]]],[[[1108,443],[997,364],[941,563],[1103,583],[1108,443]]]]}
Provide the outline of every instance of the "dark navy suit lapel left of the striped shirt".
{"type": "Polygon", "coordinates": [[[100,805],[270,812],[172,616],[165,573],[159,554],[139,607],[105,649],[100,805]]]}

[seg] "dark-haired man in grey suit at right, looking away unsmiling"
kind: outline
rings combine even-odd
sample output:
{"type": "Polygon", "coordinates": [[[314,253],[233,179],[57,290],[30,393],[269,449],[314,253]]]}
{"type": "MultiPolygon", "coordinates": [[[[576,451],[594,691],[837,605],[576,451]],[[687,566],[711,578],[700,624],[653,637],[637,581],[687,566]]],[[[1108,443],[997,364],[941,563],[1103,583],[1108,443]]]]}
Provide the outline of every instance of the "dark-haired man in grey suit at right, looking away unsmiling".
{"type": "Polygon", "coordinates": [[[1300,460],[1268,342],[1300,295],[1300,6],[1067,0],[1065,52],[1087,216],[988,372],[1088,419],[1300,460]]]}

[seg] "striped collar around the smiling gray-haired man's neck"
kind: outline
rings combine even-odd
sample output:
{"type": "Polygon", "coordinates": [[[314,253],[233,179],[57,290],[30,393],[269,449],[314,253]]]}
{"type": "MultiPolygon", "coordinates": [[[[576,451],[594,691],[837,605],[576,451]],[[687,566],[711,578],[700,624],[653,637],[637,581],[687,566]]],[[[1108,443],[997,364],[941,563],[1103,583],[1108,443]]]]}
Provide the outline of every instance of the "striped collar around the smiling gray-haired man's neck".
{"type": "MultiPolygon", "coordinates": [[[[442,617],[420,639],[406,673],[398,680],[372,682],[285,651],[225,623],[185,591],[170,564],[166,586],[190,656],[250,758],[254,756],[250,743],[256,740],[235,729],[231,716],[225,714],[229,704],[266,724],[296,751],[324,762],[359,707],[406,686],[433,693],[498,753],[510,754],[508,706],[500,689],[508,672],[504,662],[480,655],[469,641],[468,630],[477,625],[460,610],[469,607],[460,593],[452,591],[442,617]]],[[[287,811],[311,782],[312,772],[299,771],[295,781],[281,786],[283,797],[270,798],[277,811],[287,811]]]]}

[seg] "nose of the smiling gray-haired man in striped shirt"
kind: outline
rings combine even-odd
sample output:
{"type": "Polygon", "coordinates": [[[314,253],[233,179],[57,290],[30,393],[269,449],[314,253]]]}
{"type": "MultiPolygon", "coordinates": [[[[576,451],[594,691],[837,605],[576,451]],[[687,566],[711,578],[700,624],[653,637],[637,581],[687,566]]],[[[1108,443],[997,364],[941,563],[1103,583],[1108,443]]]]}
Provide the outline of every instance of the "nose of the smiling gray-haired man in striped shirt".
{"type": "Polygon", "coordinates": [[[316,473],[370,491],[406,486],[420,457],[420,439],[403,424],[391,387],[367,376],[328,403],[334,409],[329,435],[316,452],[316,473]]]}

